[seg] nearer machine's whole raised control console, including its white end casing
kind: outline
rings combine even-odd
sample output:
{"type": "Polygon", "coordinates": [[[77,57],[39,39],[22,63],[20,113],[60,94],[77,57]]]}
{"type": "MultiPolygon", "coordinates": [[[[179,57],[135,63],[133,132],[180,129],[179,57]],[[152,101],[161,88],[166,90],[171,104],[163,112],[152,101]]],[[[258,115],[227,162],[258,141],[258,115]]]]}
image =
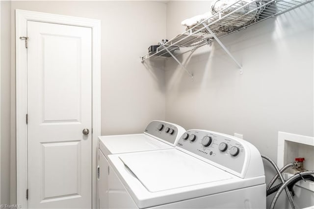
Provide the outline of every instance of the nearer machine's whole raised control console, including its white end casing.
{"type": "Polygon", "coordinates": [[[188,130],[179,139],[177,148],[241,178],[246,176],[249,166],[252,167],[250,162],[254,155],[256,164],[261,167],[258,173],[261,175],[264,173],[258,150],[249,142],[231,135],[214,131],[188,130]]]}

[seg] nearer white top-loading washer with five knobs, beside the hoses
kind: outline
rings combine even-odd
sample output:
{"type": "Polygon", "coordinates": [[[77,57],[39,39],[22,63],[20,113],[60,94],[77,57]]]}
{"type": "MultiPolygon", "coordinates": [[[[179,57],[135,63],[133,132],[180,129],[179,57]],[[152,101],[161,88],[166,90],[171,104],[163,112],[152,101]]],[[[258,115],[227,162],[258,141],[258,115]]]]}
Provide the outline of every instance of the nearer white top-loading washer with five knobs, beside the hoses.
{"type": "Polygon", "coordinates": [[[109,155],[109,209],[265,209],[259,151],[247,141],[189,130],[176,149],[109,155]]]}

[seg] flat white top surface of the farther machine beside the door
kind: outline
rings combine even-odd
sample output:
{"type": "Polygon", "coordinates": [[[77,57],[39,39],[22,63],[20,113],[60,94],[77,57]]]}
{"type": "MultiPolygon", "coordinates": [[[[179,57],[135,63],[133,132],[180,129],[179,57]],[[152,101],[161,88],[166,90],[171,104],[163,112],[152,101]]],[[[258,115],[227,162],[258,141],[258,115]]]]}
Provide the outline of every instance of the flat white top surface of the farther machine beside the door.
{"type": "Polygon", "coordinates": [[[99,140],[105,155],[173,148],[144,133],[100,136],[99,140]]]}

